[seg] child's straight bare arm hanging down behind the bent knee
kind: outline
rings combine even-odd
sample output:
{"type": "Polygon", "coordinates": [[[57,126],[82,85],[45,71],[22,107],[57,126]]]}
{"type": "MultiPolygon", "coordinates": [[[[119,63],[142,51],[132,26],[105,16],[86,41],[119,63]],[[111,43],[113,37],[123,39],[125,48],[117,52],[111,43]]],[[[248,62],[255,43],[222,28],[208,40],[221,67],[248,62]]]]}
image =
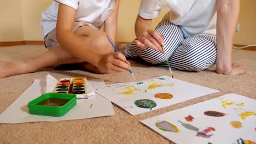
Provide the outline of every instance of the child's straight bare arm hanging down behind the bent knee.
{"type": "Polygon", "coordinates": [[[109,37],[112,39],[113,44],[115,44],[115,40],[117,38],[117,27],[118,27],[118,10],[119,10],[120,1],[115,1],[115,8],[112,13],[108,16],[106,21],[104,22],[104,32],[106,32],[109,37]]]}

